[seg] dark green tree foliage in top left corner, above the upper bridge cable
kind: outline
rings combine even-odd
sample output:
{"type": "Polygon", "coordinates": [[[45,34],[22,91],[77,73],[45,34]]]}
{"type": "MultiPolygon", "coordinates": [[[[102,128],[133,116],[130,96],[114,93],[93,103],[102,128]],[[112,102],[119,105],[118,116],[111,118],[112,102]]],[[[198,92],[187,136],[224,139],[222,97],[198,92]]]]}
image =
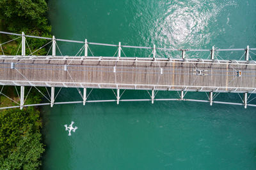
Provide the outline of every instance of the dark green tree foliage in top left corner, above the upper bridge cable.
{"type": "Polygon", "coordinates": [[[1,20],[8,31],[41,36],[51,32],[45,0],[1,0],[0,9],[1,20]]]}

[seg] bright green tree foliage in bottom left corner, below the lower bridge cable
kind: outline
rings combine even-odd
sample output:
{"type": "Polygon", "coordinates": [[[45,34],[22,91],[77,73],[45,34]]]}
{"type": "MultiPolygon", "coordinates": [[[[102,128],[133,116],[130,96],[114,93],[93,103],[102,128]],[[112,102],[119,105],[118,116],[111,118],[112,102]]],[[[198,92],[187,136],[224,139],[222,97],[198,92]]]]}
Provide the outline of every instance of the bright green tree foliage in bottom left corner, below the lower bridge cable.
{"type": "Polygon", "coordinates": [[[33,107],[1,111],[0,125],[0,167],[38,167],[41,154],[44,152],[40,142],[42,123],[39,111],[33,107]]]}

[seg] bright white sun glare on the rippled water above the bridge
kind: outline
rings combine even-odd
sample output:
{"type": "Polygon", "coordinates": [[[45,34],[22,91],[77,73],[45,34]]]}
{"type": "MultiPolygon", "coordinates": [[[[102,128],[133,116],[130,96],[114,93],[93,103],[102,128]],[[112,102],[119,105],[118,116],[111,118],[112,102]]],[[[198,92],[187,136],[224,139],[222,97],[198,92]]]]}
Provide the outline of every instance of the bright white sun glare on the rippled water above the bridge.
{"type": "Polygon", "coordinates": [[[155,36],[162,46],[174,48],[209,44],[212,34],[216,34],[209,32],[209,23],[216,22],[216,17],[225,6],[236,5],[235,2],[216,1],[175,1],[167,4],[168,10],[155,22],[155,36]]]}

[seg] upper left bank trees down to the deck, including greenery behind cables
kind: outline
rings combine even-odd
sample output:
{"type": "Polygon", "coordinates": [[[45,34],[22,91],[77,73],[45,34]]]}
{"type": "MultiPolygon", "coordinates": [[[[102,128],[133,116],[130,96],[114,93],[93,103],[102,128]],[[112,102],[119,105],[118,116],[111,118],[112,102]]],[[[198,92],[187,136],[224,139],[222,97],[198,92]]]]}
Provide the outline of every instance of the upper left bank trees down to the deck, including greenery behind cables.
{"type": "MultiPolygon", "coordinates": [[[[47,20],[47,3],[45,0],[1,0],[0,1],[0,20],[1,26],[5,31],[51,37],[51,26],[47,20]]],[[[15,36],[9,36],[16,38],[15,36]]],[[[17,44],[19,44],[17,40],[17,44]]],[[[36,49],[47,43],[45,39],[27,38],[26,53],[30,54],[36,49]]],[[[6,53],[15,55],[17,45],[6,46],[6,53]]],[[[42,48],[36,55],[44,55],[45,49],[42,48]]]]}

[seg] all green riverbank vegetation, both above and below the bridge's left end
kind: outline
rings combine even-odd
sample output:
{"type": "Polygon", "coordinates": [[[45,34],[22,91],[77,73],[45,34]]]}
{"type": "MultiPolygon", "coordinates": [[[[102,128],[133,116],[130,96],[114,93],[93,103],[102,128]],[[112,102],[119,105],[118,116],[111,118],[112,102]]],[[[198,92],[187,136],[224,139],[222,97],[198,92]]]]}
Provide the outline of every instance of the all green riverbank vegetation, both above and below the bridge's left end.
{"type": "MultiPolygon", "coordinates": [[[[47,21],[47,3],[45,0],[1,0],[0,1],[0,29],[1,31],[15,32],[33,36],[51,37],[51,26],[47,21]]],[[[0,36],[0,43],[17,36],[0,36]]],[[[0,49],[5,55],[21,53],[19,49],[20,38],[6,43],[0,49]],[[3,50],[2,50],[3,49],[3,50]],[[19,49],[19,50],[18,50],[19,49]]],[[[26,54],[30,54],[43,46],[47,40],[27,38],[26,54]]],[[[45,48],[38,50],[34,55],[44,55],[45,48]]],[[[2,89],[2,87],[0,87],[2,89]]],[[[19,101],[19,88],[4,87],[13,101],[19,101]]],[[[40,89],[42,92],[44,90],[40,89]]],[[[26,93],[29,87],[25,89],[26,93]]],[[[35,88],[32,88],[26,104],[40,103],[41,96],[35,88]]],[[[26,96],[26,94],[25,94],[26,96]]],[[[0,106],[12,106],[15,103],[1,96],[0,106]]],[[[15,104],[17,105],[17,104],[15,104]]],[[[42,161],[44,145],[42,143],[42,120],[40,111],[35,107],[23,108],[23,110],[10,109],[0,112],[0,169],[38,169],[42,161]]]]}

